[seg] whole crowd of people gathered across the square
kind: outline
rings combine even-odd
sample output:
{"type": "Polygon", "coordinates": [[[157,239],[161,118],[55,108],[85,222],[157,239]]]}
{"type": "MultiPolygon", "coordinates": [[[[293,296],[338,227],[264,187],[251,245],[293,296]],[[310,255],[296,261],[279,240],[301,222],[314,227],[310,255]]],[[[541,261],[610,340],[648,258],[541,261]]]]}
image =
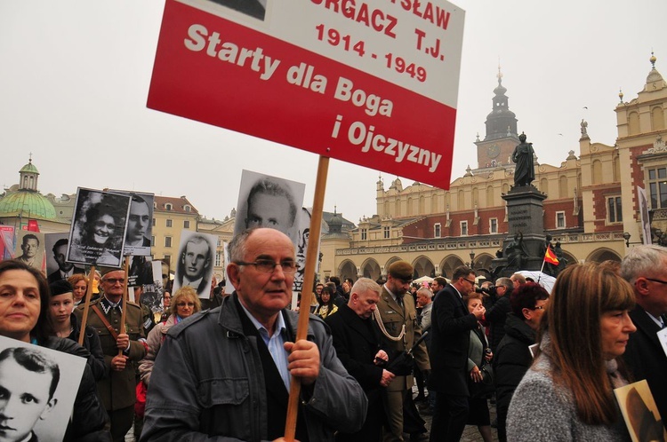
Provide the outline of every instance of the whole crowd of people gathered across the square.
{"type": "MultiPolygon", "coordinates": [[[[99,295],[86,305],[83,274],[49,281],[19,259],[0,263],[0,335],[86,360],[65,440],[121,441],[133,425],[141,442],[283,440],[294,383],[296,440],[456,441],[466,425],[485,442],[494,431],[501,441],[663,438],[667,249],[571,264],[550,293],[520,274],[482,281],[465,265],[414,284],[413,266],[395,261],[386,279],[317,283],[307,339],[296,339],[289,305],[290,238],[251,229],[229,256],[233,293],[167,288],[157,323],[124,300],[117,268],[93,275],[99,295]],[[613,391],[643,379],[656,406],[628,427],[613,391]]],[[[0,392],[3,379],[0,369],[0,392]]],[[[36,440],[32,427],[12,430],[8,396],[0,436],[36,440]]]]}

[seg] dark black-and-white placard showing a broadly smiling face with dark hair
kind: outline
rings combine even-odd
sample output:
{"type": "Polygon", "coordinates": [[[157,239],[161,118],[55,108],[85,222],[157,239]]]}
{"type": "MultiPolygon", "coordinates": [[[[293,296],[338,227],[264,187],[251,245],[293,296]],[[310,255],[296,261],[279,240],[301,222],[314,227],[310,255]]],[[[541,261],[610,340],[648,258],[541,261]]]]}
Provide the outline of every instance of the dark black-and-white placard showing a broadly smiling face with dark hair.
{"type": "Polygon", "coordinates": [[[131,197],[79,187],[67,260],[120,267],[131,197]]]}

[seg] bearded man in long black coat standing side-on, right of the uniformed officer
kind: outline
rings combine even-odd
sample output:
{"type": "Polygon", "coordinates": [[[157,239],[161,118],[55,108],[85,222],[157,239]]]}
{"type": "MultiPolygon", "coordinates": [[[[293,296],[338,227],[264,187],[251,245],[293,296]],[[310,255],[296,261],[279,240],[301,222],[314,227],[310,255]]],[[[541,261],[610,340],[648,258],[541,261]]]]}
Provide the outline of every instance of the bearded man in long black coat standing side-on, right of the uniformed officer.
{"type": "Polygon", "coordinates": [[[433,302],[430,358],[433,375],[429,390],[436,391],[436,406],[430,428],[431,442],[459,440],[468,418],[468,346],[470,330],[477,327],[482,310],[468,312],[463,296],[475,289],[475,272],[456,267],[452,283],[433,302]]]}

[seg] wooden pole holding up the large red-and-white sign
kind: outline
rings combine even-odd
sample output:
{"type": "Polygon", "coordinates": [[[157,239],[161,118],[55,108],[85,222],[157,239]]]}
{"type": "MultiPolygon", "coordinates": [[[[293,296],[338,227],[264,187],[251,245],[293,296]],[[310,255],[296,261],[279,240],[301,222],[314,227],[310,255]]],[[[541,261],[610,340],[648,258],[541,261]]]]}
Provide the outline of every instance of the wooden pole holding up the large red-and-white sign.
{"type": "MultiPolygon", "coordinates": [[[[296,339],[306,339],[308,336],[308,319],[310,314],[310,296],[315,280],[315,267],[317,264],[317,248],[319,236],[322,231],[322,210],[325,203],[326,175],[329,172],[329,157],[320,156],[317,164],[317,179],[315,181],[315,195],[313,196],[313,213],[310,218],[310,233],[308,238],[308,249],[306,251],[306,268],[303,272],[303,285],[301,286],[301,309],[299,310],[299,321],[296,328],[296,339]]],[[[285,422],[285,440],[293,442],[296,435],[296,417],[299,411],[299,394],[301,393],[301,380],[292,376],[290,386],[290,398],[287,402],[287,418],[285,422]]]]}

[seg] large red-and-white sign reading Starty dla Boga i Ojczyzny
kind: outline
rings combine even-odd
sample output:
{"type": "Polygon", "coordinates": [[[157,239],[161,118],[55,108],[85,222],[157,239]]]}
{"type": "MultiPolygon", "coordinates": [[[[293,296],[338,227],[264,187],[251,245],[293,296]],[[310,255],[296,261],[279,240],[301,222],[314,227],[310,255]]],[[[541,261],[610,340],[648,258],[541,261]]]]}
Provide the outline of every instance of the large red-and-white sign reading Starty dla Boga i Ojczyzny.
{"type": "Polygon", "coordinates": [[[448,188],[463,19],[445,0],[167,0],[148,106],[448,188]]]}

